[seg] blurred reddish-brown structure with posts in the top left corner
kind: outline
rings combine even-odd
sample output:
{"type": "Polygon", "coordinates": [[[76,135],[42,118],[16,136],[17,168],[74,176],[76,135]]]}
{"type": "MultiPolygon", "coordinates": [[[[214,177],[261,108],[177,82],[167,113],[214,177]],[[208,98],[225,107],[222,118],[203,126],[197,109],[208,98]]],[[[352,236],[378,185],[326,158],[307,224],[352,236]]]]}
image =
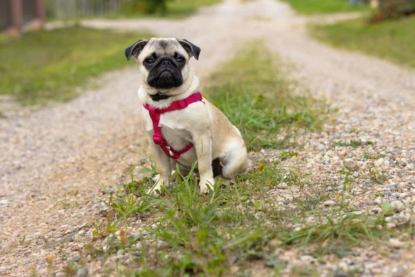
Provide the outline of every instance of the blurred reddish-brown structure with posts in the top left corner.
{"type": "Polygon", "coordinates": [[[0,0],[0,31],[21,33],[36,29],[46,20],[46,0],[0,0]]]}

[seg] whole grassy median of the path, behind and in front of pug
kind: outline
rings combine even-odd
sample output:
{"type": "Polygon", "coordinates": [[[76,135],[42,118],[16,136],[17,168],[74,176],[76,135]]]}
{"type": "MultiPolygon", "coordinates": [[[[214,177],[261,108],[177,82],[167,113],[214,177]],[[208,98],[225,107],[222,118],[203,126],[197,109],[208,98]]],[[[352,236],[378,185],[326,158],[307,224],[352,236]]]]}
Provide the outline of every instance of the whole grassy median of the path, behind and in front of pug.
{"type": "MultiPolygon", "coordinates": [[[[396,229],[412,232],[411,224],[383,228],[394,213],[390,204],[376,214],[358,212],[346,194],[284,166],[301,150],[298,134],[320,127],[328,108],[320,99],[296,96],[281,67],[265,48],[247,46],[203,91],[243,130],[250,150],[266,148],[273,159],[251,152],[252,170],[227,186],[217,181],[209,195],[199,193],[195,177],[178,174],[174,186],[149,196],[150,177],[136,180],[133,174],[155,175],[154,164],[132,170],[129,183],[115,190],[104,186],[106,220],[91,222],[97,244],[84,246],[89,258],[82,262],[104,258],[104,272],[125,276],[250,276],[256,265],[264,276],[278,276],[288,264],[287,251],[344,257],[353,247],[391,238],[396,229]],[[293,195],[289,203],[279,200],[286,193],[293,195]]],[[[351,190],[351,172],[343,170],[339,179],[344,192],[351,190]]],[[[319,275],[311,267],[292,273],[319,275]]]]}

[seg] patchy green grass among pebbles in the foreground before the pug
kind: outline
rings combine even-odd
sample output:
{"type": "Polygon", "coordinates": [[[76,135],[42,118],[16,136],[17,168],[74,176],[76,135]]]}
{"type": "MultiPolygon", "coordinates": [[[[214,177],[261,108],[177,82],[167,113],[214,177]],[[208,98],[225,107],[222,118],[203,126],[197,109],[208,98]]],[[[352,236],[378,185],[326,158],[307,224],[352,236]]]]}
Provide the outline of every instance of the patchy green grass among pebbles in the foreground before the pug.
{"type": "MultiPolygon", "coordinates": [[[[210,195],[199,193],[197,179],[191,175],[179,175],[173,188],[155,198],[143,193],[151,186],[149,179],[125,184],[126,192],[138,199],[158,201],[148,211],[135,210],[136,215],[129,215],[133,222],[151,217],[151,226],[146,228],[149,234],[128,236],[122,231],[118,237],[112,235],[126,228],[116,220],[100,233],[108,237],[104,251],[89,244],[84,249],[97,258],[120,251],[131,254],[127,266],[122,266],[122,260],[117,265],[122,268],[118,274],[127,276],[247,276],[249,263],[254,260],[268,268],[271,276],[286,267],[275,254],[277,249],[304,249],[315,257],[344,257],[352,253],[353,247],[376,245],[398,231],[384,228],[385,216],[393,213],[391,208],[382,207],[384,211],[378,215],[353,213],[355,208],[346,197],[339,197],[337,206],[326,209],[319,201],[313,208],[277,205],[270,192],[282,182],[306,186],[294,172],[282,169],[280,162],[264,163],[239,177],[234,185],[221,186],[218,182],[210,195]],[[306,223],[308,216],[315,217],[313,224],[306,223]],[[293,224],[299,228],[293,229],[293,224]]],[[[297,201],[306,202],[307,197],[301,193],[297,201]]],[[[118,213],[118,208],[112,211],[118,213]]],[[[293,274],[302,272],[306,271],[299,269],[293,274]]],[[[319,272],[313,269],[313,275],[319,276],[319,272]]]]}

